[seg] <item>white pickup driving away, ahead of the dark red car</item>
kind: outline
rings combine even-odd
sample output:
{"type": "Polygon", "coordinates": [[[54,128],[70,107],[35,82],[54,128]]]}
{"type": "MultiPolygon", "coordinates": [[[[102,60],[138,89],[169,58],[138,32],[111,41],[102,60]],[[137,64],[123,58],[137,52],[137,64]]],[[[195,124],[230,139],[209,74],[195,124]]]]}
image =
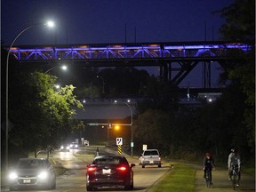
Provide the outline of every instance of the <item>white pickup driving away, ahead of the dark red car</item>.
{"type": "Polygon", "coordinates": [[[146,165],[157,165],[161,167],[161,156],[157,149],[146,149],[143,151],[139,158],[139,164],[142,168],[145,168],[146,165]]]}

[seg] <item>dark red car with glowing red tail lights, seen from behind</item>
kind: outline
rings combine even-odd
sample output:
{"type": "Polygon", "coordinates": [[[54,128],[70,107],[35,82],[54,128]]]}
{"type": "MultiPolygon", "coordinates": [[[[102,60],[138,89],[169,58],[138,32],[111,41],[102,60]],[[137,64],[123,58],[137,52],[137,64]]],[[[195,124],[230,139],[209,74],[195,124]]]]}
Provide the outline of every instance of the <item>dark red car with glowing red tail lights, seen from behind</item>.
{"type": "Polygon", "coordinates": [[[96,156],[92,164],[87,165],[87,191],[103,187],[122,186],[125,190],[133,188],[135,164],[129,164],[124,156],[96,156]]]}

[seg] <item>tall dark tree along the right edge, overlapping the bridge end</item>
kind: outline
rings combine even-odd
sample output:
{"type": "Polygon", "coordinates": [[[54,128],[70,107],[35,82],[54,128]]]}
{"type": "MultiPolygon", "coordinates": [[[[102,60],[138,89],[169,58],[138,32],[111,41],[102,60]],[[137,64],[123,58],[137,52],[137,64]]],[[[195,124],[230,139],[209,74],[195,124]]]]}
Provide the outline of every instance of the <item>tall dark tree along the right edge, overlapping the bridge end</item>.
{"type": "Polygon", "coordinates": [[[255,151],[255,1],[236,0],[220,10],[226,23],[220,28],[223,38],[233,42],[251,45],[246,53],[231,52],[229,57],[236,58],[226,68],[228,79],[236,90],[244,92],[244,132],[248,132],[248,145],[255,151]]]}

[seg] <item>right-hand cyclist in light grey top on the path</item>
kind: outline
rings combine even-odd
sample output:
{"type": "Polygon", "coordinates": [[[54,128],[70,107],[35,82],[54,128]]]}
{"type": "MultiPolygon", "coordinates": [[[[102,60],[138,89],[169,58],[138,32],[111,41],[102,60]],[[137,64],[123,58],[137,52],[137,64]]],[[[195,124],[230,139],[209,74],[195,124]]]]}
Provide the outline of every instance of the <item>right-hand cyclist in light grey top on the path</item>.
{"type": "Polygon", "coordinates": [[[239,181],[241,178],[241,157],[237,153],[236,148],[232,148],[230,151],[230,154],[228,155],[228,180],[231,180],[232,175],[232,165],[235,165],[238,169],[238,180],[237,180],[237,186],[239,185],[239,181]]]}

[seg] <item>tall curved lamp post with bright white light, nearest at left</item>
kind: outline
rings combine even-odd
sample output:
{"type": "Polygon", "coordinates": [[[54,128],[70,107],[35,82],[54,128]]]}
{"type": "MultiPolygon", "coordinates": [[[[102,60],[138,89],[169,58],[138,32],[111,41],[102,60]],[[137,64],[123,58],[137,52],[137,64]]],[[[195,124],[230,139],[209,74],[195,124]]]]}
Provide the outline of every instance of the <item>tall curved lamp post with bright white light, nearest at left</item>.
{"type": "Polygon", "coordinates": [[[5,84],[5,89],[6,89],[6,93],[5,93],[5,167],[6,167],[6,170],[8,169],[8,132],[9,132],[9,122],[8,122],[8,119],[9,119],[9,111],[8,111],[8,97],[9,97],[9,87],[8,87],[8,84],[9,84],[9,57],[10,57],[10,53],[11,53],[11,50],[12,50],[12,45],[15,43],[15,41],[17,40],[17,38],[23,34],[25,31],[27,31],[29,28],[33,28],[33,27],[36,27],[36,26],[39,26],[39,25],[46,25],[50,28],[52,28],[54,26],[54,23],[52,21],[48,21],[46,23],[36,23],[36,24],[33,24],[33,25],[30,25],[28,26],[27,28],[24,28],[23,30],[20,31],[20,33],[14,37],[14,39],[12,40],[12,43],[9,47],[9,50],[8,50],[8,53],[7,53],[7,58],[6,58],[6,84],[5,84]]]}

